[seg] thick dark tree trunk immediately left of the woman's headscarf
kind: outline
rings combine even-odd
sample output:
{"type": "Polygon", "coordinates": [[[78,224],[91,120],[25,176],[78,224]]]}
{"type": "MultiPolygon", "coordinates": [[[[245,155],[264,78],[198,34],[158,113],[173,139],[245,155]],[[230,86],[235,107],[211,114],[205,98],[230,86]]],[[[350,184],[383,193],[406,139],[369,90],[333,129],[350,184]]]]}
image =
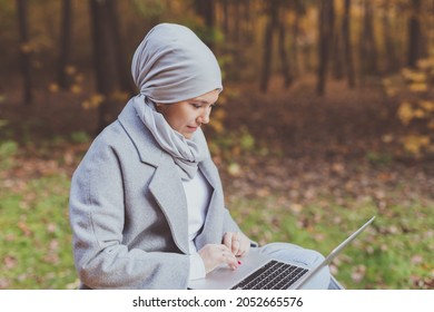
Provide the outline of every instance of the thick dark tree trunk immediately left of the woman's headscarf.
{"type": "Polygon", "coordinates": [[[103,101],[99,106],[98,133],[116,116],[112,94],[117,90],[118,71],[116,69],[116,51],[111,37],[108,1],[114,0],[89,0],[97,92],[103,96],[103,101]]]}

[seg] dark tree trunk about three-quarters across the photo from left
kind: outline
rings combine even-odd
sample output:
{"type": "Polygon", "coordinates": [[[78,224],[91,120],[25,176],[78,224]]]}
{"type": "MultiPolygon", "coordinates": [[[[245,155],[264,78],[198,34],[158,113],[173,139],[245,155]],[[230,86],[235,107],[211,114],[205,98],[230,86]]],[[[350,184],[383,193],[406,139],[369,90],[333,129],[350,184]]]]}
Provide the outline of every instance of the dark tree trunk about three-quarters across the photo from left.
{"type": "Polygon", "coordinates": [[[316,91],[318,95],[324,95],[327,66],[329,59],[329,42],[332,39],[334,23],[334,4],[333,0],[322,0],[319,2],[319,42],[318,42],[318,80],[316,91]]]}

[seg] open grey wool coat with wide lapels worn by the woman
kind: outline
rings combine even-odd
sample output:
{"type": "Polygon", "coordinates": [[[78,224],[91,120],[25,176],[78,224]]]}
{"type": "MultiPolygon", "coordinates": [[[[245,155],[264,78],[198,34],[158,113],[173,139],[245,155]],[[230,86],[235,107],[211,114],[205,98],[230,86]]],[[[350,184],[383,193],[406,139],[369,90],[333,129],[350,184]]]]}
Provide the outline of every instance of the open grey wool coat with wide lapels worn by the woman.
{"type": "MultiPolygon", "coordinates": [[[[195,140],[206,147],[200,130],[195,140]]],[[[195,241],[198,250],[221,243],[227,231],[240,231],[225,208],[211,158],[199,169],[213,195],[195,241]]],[[[73,173],[69,213],[82,289],[187,287],[188,213],[181,179],[132,105],[95,139],[73,173]]]]}

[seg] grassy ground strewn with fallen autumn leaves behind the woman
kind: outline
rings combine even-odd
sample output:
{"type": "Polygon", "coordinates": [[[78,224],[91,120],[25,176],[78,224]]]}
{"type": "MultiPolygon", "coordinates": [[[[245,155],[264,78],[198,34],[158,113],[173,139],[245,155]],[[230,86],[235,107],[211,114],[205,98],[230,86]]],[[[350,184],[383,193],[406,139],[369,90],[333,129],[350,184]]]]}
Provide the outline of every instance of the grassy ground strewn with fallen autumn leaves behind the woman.
{"type": "MultiPolygon", "coordinates": [[[[334,274],[348,289],[433,289],[433,158],[402,152],[406,129],[379,85],[333,82],[318,97],[313,82],[283,91],[276,81],[266,95],[256,86],[225,89],[214,113],[221,125],[205,130],[234,217],[262,244],[327,253],[376,215],[335,260],[334,274]]],[[[0,289],[77,286],[69,179],[89,145],[81,131],[96,125],[95,113],[78,108],[83,98],[3,103],[0,289]]]]}

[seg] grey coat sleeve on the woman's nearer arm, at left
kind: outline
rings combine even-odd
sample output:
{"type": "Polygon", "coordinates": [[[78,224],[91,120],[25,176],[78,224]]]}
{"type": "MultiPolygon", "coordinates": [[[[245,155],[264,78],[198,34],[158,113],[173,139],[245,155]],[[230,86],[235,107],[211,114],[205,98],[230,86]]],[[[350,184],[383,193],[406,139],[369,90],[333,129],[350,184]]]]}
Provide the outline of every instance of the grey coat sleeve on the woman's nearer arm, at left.
{"type": "Polygon", "coordinates": [[[91,289],[186,289],[188,255],[122,244],[128,182],[107,142],[97,138],[71,181],[70,224],[81,282],[91,289]]]}

